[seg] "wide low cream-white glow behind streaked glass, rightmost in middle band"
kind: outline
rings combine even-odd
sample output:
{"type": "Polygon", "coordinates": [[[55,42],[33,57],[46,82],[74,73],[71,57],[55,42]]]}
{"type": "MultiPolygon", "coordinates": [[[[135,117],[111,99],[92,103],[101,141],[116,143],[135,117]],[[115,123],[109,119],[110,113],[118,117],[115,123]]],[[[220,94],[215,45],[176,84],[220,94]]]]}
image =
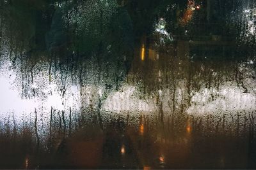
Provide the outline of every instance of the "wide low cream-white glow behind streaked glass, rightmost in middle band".
{"type": "Polygon", "coordinates": [[[243,93],[236,85],[220,87],[216,89],[204,89],[193,94],[189,114],[218,114],[223,111],[255,110],[256,96],[250,93],[243,93]],[[212,100],[211,96],[220,96],[212,100]]]}

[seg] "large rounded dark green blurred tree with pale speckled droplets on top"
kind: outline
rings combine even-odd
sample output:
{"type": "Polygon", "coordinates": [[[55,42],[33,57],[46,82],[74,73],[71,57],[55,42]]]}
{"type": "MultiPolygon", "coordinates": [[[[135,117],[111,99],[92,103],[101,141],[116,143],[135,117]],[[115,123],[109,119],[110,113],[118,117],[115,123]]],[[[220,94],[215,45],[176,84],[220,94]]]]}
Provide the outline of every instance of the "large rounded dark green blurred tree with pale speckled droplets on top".
{"type": "Polygon", "coordinates": [[[48,50],[83,57],[131,52],[132,39],[131,18],[115,0],[60,4],[46,34],[48,50]]]}

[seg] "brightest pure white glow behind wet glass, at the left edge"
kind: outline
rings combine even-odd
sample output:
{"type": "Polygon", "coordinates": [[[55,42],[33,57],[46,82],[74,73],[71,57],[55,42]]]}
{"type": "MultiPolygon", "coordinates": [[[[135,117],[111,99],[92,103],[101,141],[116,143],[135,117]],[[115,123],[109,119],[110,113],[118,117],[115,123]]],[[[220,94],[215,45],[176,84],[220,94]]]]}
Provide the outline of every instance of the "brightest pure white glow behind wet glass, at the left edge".
{"type": "Polygon", "coordinates": [[[69,108],[72,108],[72,111],[79,110],[80,90],[77,85],[67,87],[63,97],[56,82],[52,81],[47,86],[45,83],[40,83],[42,80],[47,80],[47,76],[35,76],[34,83],[30,87],[35,90],[36,95],[22,97],[20,83],[15,76],[17,73],[9,67],[8,62],[4,62],[0,67],[0,121],[12,115],[15,124],[20,125],[24,121],[35,121],[35,113],[37,113],[38,119],[40,117],[47,122],[50,120],[51,108],[66,112],[69,108]]]}

